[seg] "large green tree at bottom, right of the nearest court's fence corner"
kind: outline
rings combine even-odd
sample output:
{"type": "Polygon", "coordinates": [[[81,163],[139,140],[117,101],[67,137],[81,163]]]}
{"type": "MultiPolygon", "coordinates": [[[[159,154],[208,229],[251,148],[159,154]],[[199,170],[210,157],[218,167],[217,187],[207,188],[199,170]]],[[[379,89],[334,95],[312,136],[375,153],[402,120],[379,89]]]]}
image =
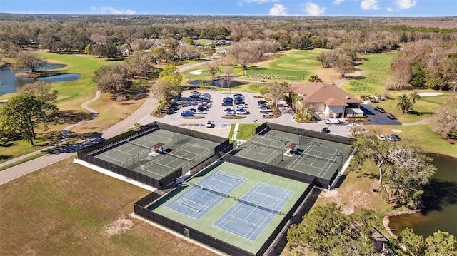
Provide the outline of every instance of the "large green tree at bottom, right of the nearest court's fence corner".
{"type": "Polygon", "coordinates": [[[306,248],[318,255],[373,255],[373,225],[379,220],[368,210],[344,215],[335,203],[319,205],[287,232],[288,249],[306,248]]]}

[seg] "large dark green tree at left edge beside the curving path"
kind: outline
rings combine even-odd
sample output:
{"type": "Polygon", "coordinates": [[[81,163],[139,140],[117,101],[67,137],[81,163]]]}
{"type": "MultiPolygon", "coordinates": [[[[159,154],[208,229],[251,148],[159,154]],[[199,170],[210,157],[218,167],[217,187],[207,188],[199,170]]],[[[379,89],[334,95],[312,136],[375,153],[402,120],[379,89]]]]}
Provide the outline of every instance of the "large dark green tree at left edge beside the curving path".
{"type": "Polygon", "coordinates": [[[35,96],[25,94],[14,96],[0,108],[0,128],[14,129],[14,132],[21,133],[24,140],[34,145],[35,128],[39,123],[43,123],[46,128],[49,117],[46,115],[46,110],[49,109],[54,110],[53,113],[57,110],[55,106],[51,108],[35,96]],[[4,126],[4,124],[7,125],[4,126]]]}

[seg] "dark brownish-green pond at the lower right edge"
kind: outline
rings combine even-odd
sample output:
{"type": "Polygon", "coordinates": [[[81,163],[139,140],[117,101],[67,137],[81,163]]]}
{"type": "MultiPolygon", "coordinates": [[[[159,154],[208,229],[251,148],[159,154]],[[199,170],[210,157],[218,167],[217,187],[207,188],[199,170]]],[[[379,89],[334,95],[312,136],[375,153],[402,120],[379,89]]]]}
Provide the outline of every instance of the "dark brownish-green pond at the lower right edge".
{"type": "Polygon", "coordinates": [[[428,156],[433,158],[438,170],[423,196],[426,211],[391,217],[389,226],[395,235],[409,227],[423,237],[438,230],[457,236],[457,158],[437,154],[428,156]]]}

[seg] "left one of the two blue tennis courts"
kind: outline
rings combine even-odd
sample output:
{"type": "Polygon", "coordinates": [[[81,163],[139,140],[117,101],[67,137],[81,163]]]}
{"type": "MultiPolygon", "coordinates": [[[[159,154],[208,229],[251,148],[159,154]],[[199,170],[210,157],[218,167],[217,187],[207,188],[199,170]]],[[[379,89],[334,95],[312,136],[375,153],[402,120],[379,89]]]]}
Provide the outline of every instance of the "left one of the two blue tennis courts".
{"type": "Polygon", "coordinates": [[[246,178],[216,170],[199,183],[191,183],[189,190],[177,196],[166,208],[200,220],[214,206],[229,197],[246,178]]]}

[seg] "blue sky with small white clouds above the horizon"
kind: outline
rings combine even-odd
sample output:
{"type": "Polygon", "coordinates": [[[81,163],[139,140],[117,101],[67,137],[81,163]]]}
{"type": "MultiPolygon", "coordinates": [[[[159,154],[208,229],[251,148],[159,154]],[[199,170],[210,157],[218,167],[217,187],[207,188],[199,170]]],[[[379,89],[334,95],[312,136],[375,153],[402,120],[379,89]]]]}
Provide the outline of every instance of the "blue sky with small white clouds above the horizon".
{"type": "Polygon", "coordinates": [[[457,0],[0,0],[14,14],[457,16],[457,0]]]}

